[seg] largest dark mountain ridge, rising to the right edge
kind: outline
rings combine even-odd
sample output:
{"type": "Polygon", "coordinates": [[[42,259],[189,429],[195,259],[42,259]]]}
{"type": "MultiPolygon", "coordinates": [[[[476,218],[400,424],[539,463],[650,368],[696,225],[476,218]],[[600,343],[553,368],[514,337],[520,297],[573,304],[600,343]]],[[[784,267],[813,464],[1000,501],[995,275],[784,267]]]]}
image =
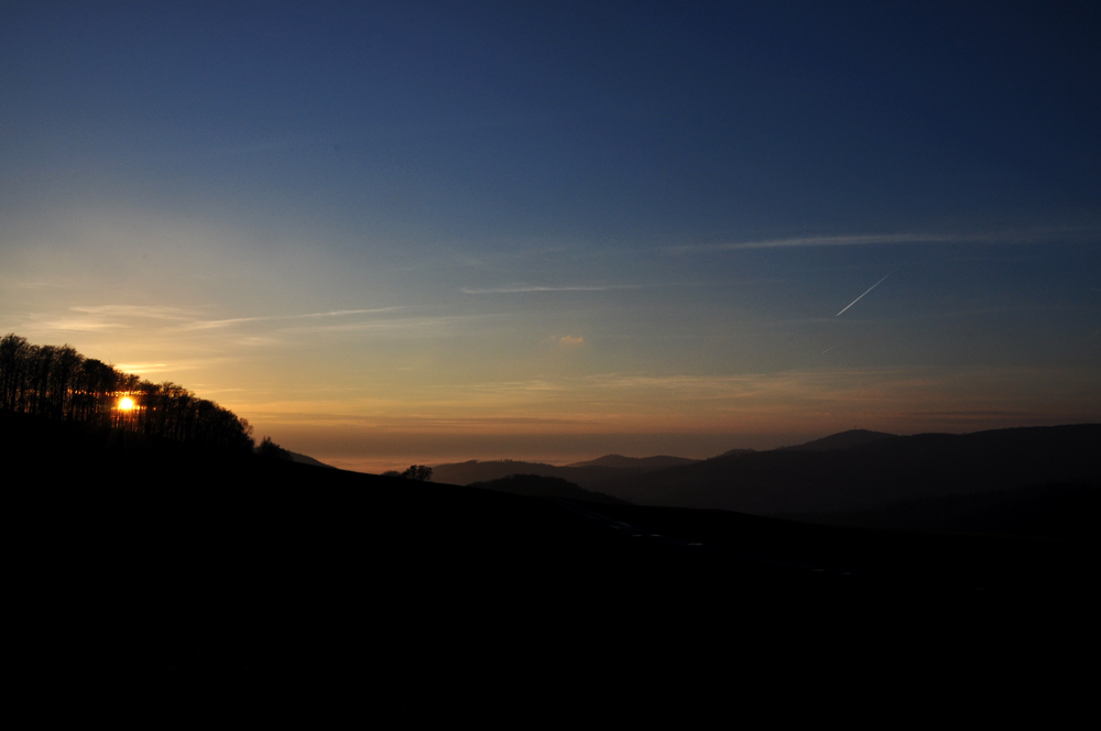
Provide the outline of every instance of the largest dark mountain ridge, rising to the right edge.
{"type": "Polygon", "coordinates": [[[842,433],[802,448],[619,472],[590,489],[642,505],[842,513],[1053,482],[1091,483],[1101,477],[1099,444],[1101,424],[963,435],[842,433]]]}

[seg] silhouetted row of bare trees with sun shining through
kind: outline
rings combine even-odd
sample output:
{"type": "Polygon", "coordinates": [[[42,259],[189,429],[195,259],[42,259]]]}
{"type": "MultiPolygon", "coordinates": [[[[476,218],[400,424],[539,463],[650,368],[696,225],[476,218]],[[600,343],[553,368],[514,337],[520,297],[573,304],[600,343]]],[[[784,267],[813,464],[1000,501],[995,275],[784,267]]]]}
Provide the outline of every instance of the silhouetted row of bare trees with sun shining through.
{"type": "Polygon", "coordinates": [[[247,419],[182,385],[152,383],[70,346],[35,346],[13,332],[0,339],[0,411],[201,446],[253,448],[247,419]]]}

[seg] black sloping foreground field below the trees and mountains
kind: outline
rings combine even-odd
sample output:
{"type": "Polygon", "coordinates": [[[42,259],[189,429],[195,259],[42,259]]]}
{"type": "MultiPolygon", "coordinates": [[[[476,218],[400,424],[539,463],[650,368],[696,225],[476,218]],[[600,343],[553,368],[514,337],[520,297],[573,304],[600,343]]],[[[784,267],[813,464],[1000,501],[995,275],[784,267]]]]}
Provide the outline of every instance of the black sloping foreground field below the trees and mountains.
{"type": "Polygon", "coordinates": [[[43,720],[989,716],[1091,692],[1071,670],[1097,648],[1082,543],[543,500],[0,424],[15,695],[43,720]]]}

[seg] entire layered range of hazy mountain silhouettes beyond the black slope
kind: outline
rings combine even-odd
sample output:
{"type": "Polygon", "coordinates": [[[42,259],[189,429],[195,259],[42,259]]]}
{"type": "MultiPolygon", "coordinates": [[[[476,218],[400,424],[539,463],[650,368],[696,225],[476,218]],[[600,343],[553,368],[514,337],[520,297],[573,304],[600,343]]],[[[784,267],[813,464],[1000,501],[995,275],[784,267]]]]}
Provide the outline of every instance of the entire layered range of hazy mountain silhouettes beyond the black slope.
{"type": "Polygon", "coordinates": [[[557,479],[587,491],[573,495],[581,500],[607,495],[836,525],[1089,541],[1082,516],[1098,512],[1097,444],[1101,425],[1089,424],[908,437],[853,429],[707,460],[608,455],[565,467],[471,460],[435,469],[439,481],[457,484],[508,485],[506,478],[527,474],[530,495],[562,497],[557,479]]]}

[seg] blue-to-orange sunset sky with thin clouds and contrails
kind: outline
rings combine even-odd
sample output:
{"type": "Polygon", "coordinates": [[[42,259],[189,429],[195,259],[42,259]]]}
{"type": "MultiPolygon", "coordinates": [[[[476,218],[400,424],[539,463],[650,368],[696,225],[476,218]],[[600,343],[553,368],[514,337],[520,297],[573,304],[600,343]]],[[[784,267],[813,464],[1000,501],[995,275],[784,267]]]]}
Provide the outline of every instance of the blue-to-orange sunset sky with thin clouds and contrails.
{"type": "Polygon", "coordinates": [[[1084,2],[3,2],[0,334],[366,471],[1099,422],[1098,37],[1084,2]]]}

